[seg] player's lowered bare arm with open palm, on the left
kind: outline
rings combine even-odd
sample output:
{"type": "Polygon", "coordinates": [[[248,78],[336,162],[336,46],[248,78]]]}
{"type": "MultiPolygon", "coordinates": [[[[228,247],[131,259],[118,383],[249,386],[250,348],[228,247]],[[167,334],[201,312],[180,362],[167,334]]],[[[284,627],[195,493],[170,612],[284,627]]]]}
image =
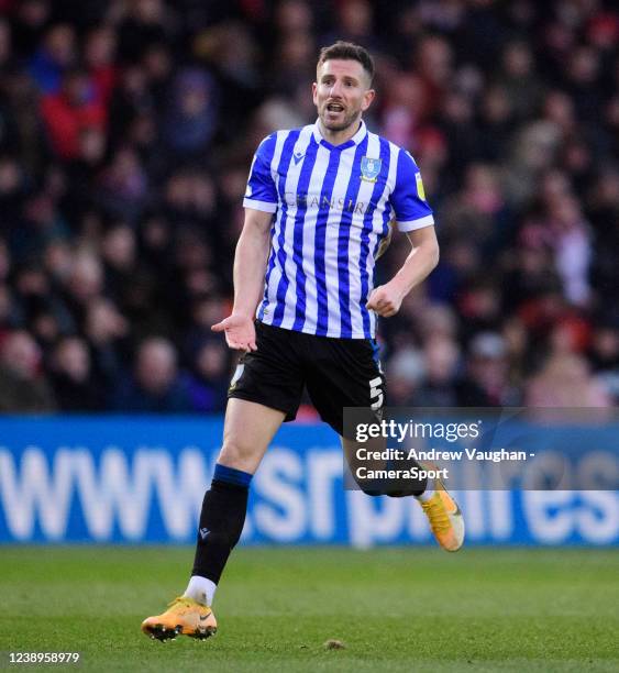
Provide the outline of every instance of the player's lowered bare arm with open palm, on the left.
{"type": "Polygon", "coordinates": [[[245,222],[234,254],[232,313],[211,328],[215,332],[225,333],[225,341],[231,349],[257,349],[254,316],[264,290],[272,222],[272,212],[245,209],[245,222]]]}

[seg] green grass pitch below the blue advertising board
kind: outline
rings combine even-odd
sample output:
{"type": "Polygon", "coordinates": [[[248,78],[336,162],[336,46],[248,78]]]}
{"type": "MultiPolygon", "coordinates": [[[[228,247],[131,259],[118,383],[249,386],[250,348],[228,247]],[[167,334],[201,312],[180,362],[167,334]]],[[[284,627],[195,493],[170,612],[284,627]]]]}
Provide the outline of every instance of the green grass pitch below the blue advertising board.
{"type": "MultiPolygon", "coordinates": [[[[181,593],[189,548],[0,548],[9,651],[86,671],[617,671],[612,550],[240,549],[219,633],[161,643],[140,622],[181,593]],[[327,649],[336,639],[343,649],[327,649]]],[[[35,670],[16,666],[14,670],[35,670]]]]}

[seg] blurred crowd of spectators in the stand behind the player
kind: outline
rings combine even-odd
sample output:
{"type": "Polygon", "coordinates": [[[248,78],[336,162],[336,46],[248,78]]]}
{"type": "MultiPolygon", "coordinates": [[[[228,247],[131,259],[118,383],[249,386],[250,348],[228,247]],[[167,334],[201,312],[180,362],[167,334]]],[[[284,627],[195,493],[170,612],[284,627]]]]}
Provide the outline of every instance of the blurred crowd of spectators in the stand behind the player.
{"type": "Polygon", "coordinates": [[[252,154],[316,119],[338,38],[373,52],[366,121],[441,243],[380,324],[390,404],[618,405],[615,7],[0,0],[0,411],[224,409],[252,154]]]}

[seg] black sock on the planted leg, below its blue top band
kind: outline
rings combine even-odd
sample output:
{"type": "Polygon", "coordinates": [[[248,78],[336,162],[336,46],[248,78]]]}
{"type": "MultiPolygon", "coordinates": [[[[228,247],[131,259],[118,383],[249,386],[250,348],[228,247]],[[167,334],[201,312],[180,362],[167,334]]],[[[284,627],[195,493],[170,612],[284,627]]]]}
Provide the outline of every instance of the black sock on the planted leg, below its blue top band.
{"type": "Polygon", "coordinates": [[[213,478],[205,494],[191,575],[217,584],[230,552],[241,538],[250,486],[213,478]]]}

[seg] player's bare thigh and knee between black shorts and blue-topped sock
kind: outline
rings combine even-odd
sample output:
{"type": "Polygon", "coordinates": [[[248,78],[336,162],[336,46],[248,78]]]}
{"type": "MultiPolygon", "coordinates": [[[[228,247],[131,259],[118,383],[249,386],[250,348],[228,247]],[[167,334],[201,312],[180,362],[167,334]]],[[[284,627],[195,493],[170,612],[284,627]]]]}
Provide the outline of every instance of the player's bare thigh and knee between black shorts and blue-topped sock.
{"type": "Polygon", "coordinates": [[[279,409],[229,399],[218,462],[254,474],[285,417],[279,409]]]}

